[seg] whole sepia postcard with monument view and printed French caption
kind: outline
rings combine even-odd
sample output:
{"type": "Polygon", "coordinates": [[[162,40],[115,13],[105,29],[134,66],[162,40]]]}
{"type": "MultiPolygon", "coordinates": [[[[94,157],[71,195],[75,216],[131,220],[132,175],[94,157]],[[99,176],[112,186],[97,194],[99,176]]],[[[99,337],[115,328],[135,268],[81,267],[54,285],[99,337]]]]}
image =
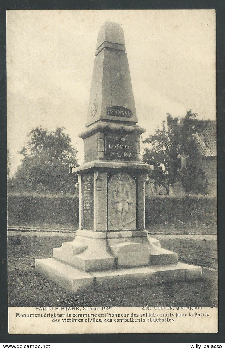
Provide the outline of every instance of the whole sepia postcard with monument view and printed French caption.
{"type": "Polygon", "coordinates": [[[7,139],[10,334],[218,331],[215,10],[8,10],[7,139]]]}

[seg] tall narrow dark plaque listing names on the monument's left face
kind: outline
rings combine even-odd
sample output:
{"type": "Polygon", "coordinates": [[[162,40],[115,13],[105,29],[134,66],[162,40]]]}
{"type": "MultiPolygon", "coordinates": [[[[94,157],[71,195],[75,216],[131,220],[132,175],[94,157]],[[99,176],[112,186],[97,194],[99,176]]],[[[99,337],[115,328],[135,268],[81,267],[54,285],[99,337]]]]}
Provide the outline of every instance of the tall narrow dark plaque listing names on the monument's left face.
{"type": "Polygon", "coordinates": [[[82,180],[82,229],[93,230],[93,173],[84,173],[82,180]]]}

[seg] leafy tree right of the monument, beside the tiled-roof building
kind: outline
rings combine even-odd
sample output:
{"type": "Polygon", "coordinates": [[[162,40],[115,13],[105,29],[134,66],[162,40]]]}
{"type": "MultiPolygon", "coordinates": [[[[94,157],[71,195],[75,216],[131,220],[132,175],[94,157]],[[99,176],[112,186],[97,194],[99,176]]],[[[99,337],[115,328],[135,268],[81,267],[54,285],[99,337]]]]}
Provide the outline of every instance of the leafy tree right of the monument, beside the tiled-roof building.
{"type": "Polygon", "coordinates": [[[162,129],[158,128],[154,135],[144,141],[149,147],[144,150],[143,161],[154,165],[154,170],[148,174],[148,181],[152,181],[155,188],[162,185],[167,194],[169,187],[173,187],[178,180],[186,192],[204,192],[207,185],[204,172],[194,156],[194,134],[201,128],[196,116],[191,110],[182,119],[167,114],[162,129]],[[185,166],[182,166],[182,158],[186,159],[185,166]]]}

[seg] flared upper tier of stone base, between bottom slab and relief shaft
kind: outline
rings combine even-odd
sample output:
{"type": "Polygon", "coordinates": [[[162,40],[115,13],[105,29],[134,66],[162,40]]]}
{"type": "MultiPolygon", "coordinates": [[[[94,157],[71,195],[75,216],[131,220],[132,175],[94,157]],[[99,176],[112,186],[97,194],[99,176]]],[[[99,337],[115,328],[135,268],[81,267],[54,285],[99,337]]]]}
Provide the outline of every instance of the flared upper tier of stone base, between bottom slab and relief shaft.
{"type": "Polygon", "coordinates": [[[72,242],[54,248],[53,257],[90,272],[177,263],[177,253],[161,248],[146,230],[93,232],[77,230],[72,242]]]}

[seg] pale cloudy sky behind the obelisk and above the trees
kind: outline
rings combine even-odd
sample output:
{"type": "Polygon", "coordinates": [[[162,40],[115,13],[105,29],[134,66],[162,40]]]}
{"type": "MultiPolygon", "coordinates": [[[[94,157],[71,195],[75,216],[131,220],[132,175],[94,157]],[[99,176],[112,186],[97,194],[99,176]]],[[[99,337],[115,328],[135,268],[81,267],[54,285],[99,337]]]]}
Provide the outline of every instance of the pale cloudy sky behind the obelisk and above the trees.
{"type": "Polygon", "coordinates": [[[66,127],[83,158],[97,34],[121,24],[138,125],[147,137],[166,113],[216,119],[214,10],[7,11],[7,115],[12,172],[27,134],[66,127]]]}

